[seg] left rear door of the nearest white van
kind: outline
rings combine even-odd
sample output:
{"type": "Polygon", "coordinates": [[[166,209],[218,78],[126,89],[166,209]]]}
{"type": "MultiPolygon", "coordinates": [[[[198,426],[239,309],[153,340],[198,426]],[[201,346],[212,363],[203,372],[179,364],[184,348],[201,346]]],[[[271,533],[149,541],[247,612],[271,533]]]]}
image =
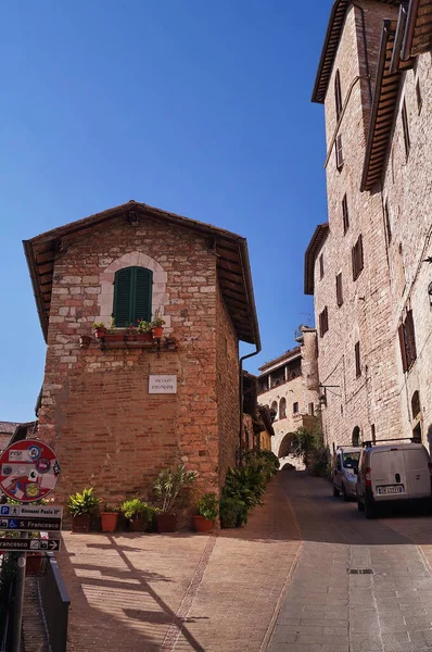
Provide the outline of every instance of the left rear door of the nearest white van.
{"type": "Polygon", "coordinates": [[[408,498],[404,452],[397,447],[372,450],[371,481],[373,497],[378,501],[408,498]]]}

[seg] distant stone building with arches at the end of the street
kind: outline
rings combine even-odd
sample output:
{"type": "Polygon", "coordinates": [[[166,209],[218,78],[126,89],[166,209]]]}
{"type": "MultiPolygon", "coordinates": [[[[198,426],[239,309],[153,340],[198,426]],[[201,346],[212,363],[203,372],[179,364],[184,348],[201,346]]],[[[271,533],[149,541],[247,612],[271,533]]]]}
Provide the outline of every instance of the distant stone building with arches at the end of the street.
{"type": "Polygon", "coordinates": [[[302,467],[290,454],[291,440],[297,428],[313,429],[319,414],[316,329],[301,326],[296,339],[298,347],[259,367],[258,403],[274,417],[272,452],[302,467]]]}

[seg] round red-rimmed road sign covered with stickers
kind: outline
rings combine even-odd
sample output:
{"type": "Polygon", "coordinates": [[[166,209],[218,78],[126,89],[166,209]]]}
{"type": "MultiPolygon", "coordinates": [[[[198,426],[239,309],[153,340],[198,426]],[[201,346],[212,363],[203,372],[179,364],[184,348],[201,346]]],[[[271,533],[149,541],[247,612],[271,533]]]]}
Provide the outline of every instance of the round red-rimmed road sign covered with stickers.
{"type": "Polygon", "coordinates": [[[0,489],[20,502],[47,498],[59,476],[60,464],[54,451],[38,439],[12,443],[0,455],[0,489]]]}

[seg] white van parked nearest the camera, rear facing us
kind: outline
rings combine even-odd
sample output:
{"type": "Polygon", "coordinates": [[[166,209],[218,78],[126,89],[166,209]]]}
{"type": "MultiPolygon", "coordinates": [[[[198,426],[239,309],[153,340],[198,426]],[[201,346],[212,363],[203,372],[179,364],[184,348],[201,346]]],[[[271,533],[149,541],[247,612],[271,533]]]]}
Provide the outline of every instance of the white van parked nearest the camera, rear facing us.
{"type": "Polygon", "coordinates": [[[366,441],[357,473],[357,505],[367,518],[390,501],[422,501],[432,506],[431,457],[418,440],[366,441]]]}

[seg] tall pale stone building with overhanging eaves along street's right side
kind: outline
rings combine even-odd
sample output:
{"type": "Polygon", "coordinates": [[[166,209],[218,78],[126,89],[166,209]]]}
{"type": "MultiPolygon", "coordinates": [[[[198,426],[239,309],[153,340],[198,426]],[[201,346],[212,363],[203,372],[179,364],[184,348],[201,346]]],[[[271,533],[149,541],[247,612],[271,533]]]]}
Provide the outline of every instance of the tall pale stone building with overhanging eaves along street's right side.
{"type": "Polygon", "coordinates": [[[330,444],[432,424],[432,1],[336,0],[325,104],[328,222],[305,256],[330,444]]]}

